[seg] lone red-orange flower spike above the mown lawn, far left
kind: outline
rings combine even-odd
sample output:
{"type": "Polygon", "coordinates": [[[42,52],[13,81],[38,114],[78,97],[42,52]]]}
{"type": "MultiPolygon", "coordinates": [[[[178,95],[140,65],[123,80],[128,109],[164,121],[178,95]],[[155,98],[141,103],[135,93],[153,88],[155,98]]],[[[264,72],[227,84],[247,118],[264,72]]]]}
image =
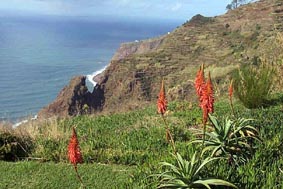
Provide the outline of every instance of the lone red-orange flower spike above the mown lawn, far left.
{"type": "Polygon", "coordinates": [[[79,146],[79,141],[78,141],[78,137],[77,137],[77,133],[75,128],[73,127],[73,134],[72,134],[72,138],[69,142],[69,146],[68,146],[68,156],[69,156],[69,160],[72,164],[74,164],[75,166],[78,163],[82,163],[83,162],[83,158],[82,158],[82,154],[81,154],[81,150],[80,150],[80,146],[79,146]]]}

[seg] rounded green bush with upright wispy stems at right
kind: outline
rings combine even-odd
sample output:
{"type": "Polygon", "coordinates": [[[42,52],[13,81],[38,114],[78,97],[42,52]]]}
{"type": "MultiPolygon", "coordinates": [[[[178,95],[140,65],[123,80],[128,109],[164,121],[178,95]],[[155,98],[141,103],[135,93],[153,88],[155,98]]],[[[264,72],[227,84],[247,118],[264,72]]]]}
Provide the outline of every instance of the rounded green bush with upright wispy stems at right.
{"type": "Polygon", "coordinates": [[[234,89],[247,108],[265,105],[273,83],[274,69],[261,59],[253,65],[243,65],[234,75],[234,89]]]}

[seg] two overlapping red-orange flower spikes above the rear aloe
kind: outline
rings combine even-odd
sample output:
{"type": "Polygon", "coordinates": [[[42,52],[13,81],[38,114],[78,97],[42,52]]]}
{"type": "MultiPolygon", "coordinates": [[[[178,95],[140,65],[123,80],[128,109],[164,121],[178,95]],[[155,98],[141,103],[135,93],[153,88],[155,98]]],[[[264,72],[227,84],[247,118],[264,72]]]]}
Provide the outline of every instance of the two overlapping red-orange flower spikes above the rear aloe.
{"type": "Polygon", "coordinates": [[[210,73],[208,74],[208,79],[205,82],[203,65],[197,73],[195,88],[199,97],[200,107],[203,111],[203,122],[205,124],[208,119],[208,114],[214,112],[214,92],[210,73]]]}

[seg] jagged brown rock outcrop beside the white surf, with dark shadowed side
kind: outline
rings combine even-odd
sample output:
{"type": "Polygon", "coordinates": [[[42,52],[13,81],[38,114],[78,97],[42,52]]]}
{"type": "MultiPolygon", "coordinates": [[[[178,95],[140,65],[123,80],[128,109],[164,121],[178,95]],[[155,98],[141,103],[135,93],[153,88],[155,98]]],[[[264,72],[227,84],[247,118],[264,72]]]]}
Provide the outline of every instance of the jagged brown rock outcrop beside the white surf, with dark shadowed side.
{"type": "Polygon", "coordinates": [[[92,93],[89,92],[85,80],[84,76],[72,78],[69,85],[61,90],[55,101],[38,113],[38,117],[68,117],[100,110],[104,103],[104,92],[99,85],[92,93]]]}

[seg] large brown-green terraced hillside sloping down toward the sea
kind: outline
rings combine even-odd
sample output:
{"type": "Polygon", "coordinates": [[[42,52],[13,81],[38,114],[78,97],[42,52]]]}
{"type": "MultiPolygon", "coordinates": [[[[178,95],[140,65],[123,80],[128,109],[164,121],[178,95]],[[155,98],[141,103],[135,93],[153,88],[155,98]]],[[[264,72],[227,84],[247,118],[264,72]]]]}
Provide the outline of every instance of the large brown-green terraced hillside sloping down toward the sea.
{"type": "MultiPolygon", "coordinates": [[[[101,100],[93,109],[117,112],[154,104],[162,79],[169,100],[194,100],[193,81],[202,63],[211,72],[216,96],[224,88],[226,94],[229,74],[239,64],[272,55],[276,33],[282,31],[282,4],[261,0],[213,18],[196,15],[165,36],[122,44],[96,78],[93,93],[100,97],[92,98],[101,100]]],[[[75,107],[68,114],[79,112],[75,107]]]]}

